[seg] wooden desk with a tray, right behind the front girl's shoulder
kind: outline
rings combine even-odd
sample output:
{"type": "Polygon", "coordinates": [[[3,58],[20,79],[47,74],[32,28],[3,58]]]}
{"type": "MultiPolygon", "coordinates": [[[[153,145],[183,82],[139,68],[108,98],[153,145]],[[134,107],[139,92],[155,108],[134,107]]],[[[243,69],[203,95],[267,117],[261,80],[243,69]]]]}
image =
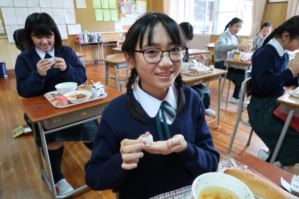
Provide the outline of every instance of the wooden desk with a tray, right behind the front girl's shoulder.
{"type": "Polygon", "coordinates": [[[209,124],[209,123],[211,123],[213,121],[218,121],[218,124],[217,124],[217,128],[218,129],[220,128],[221,75],[222,74],[226,74],[226,73],[227,73],[226,70],[221,70],[221,69],[215,68],[214,72],[208,73],[208,74],[205,74],[205,75],[190,76],[190,75],[181,74],[183,83],[185,85],[187,85],[187,86],[190,86],[190,87],[198,85],[198,84],[204,84],[206,82],[210,82],[210,81],[214,81],[214,80],[219,79],[219,88],[218,88],[218,116],[215,119],[207,122],[207,124],[209,124]]]}

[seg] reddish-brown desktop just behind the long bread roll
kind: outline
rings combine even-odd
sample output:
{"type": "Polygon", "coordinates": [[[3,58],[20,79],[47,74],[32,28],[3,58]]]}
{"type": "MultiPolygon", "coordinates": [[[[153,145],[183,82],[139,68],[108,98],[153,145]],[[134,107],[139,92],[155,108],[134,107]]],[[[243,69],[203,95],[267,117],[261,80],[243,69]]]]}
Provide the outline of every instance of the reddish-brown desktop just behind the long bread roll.
{"type": "Polygon", "coordinates": [[[246,166],[249,166],[251,169],[263,175],[269,181],[273,182],[274,184],[276,184],[277,186],[279,186],[284,190],[286,189],[281,185],[280,177],[283,177],[283,179],[288,183],[291,183],[291,179],[292,177],[294,177],[292,173],[280,169],[277,166],[271,165],[252,155],[248,155],[248,154],[242,155],[242,157],[239,158],[238,161],[246,166]]]}

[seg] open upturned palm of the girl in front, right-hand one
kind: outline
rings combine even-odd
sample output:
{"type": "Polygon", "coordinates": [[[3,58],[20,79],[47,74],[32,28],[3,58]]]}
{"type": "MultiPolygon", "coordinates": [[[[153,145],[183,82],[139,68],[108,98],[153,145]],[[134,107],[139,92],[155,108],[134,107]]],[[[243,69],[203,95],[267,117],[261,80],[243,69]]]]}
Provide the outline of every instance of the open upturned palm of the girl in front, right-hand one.
{"type": "Polygon", "coordinates": [[[172,152],[181,152],[184,151],[188,146],[188,143],[185,141],[183,135],[175,135],[167,141],[157,141],[151,146],[144,147],[143,150],[154,153],[154,154],[163,154],[167,155],[172,152]]]}

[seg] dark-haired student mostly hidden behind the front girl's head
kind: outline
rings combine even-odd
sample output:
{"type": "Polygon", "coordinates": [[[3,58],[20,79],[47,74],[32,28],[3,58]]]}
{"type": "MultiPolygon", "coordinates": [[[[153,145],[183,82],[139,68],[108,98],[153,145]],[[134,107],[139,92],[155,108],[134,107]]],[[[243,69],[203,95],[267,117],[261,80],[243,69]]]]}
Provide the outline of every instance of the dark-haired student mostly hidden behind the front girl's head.
{"type": "MultiPolygon", "coordinates": [[[[189,41],[191,41],[193,39],[193,26],[188,23],[188,22],[183,22],[179,24],[182,28],[182,30],[185,33],[185,36],[187,38],[187,44],[189,43],[189,41]]],[[[198,62],[202,63],[203,61],[205,61],[207,58],[205,55],[200,55],[198,62]]],[[[187,50],[186,52],[186,56],[183,59],[183,62],[188,62],[189,61],[189,52],[187,50]]],[[[196,85],[191,87],[193,88],[200,96],[200,98],[202,99],[202,102],[204,103],[205,106],[205,113],[208,116],[214,116],[215,112],[210,108],[210,101],[211,101],[211,93],[209,91],[209,89],[207,87],[205,87],[202,84],[196,85]]]]}

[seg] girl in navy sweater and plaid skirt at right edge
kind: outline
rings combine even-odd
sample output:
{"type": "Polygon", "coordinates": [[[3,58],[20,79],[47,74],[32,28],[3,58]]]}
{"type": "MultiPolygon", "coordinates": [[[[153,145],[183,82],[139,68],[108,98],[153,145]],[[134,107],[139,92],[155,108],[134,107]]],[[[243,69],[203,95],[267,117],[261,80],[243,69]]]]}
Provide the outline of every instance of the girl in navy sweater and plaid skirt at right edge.
{"type": "MultiPolygon", "coordinates": [[[[280,105],[276,99],[284,87],[298,86],[299,64],[288,68],[286,50],[299,47],[299,16],[294,16],[277,27],[265,39],[263,46],[252,56],[252,96],[247,107],[250,124],[271,152],[274,151],[284,121],[273,113],[280,105]],[[273,40],[268,44],[268,42],[273,40]],[[266,45],[267,44],[267,45],[266,45]]],[[[299,163],[299,133],[289,126],[277,155],[283,166],[299,163]]],[[[266,161],[270,161],[271,155],[266,161]]]]}

